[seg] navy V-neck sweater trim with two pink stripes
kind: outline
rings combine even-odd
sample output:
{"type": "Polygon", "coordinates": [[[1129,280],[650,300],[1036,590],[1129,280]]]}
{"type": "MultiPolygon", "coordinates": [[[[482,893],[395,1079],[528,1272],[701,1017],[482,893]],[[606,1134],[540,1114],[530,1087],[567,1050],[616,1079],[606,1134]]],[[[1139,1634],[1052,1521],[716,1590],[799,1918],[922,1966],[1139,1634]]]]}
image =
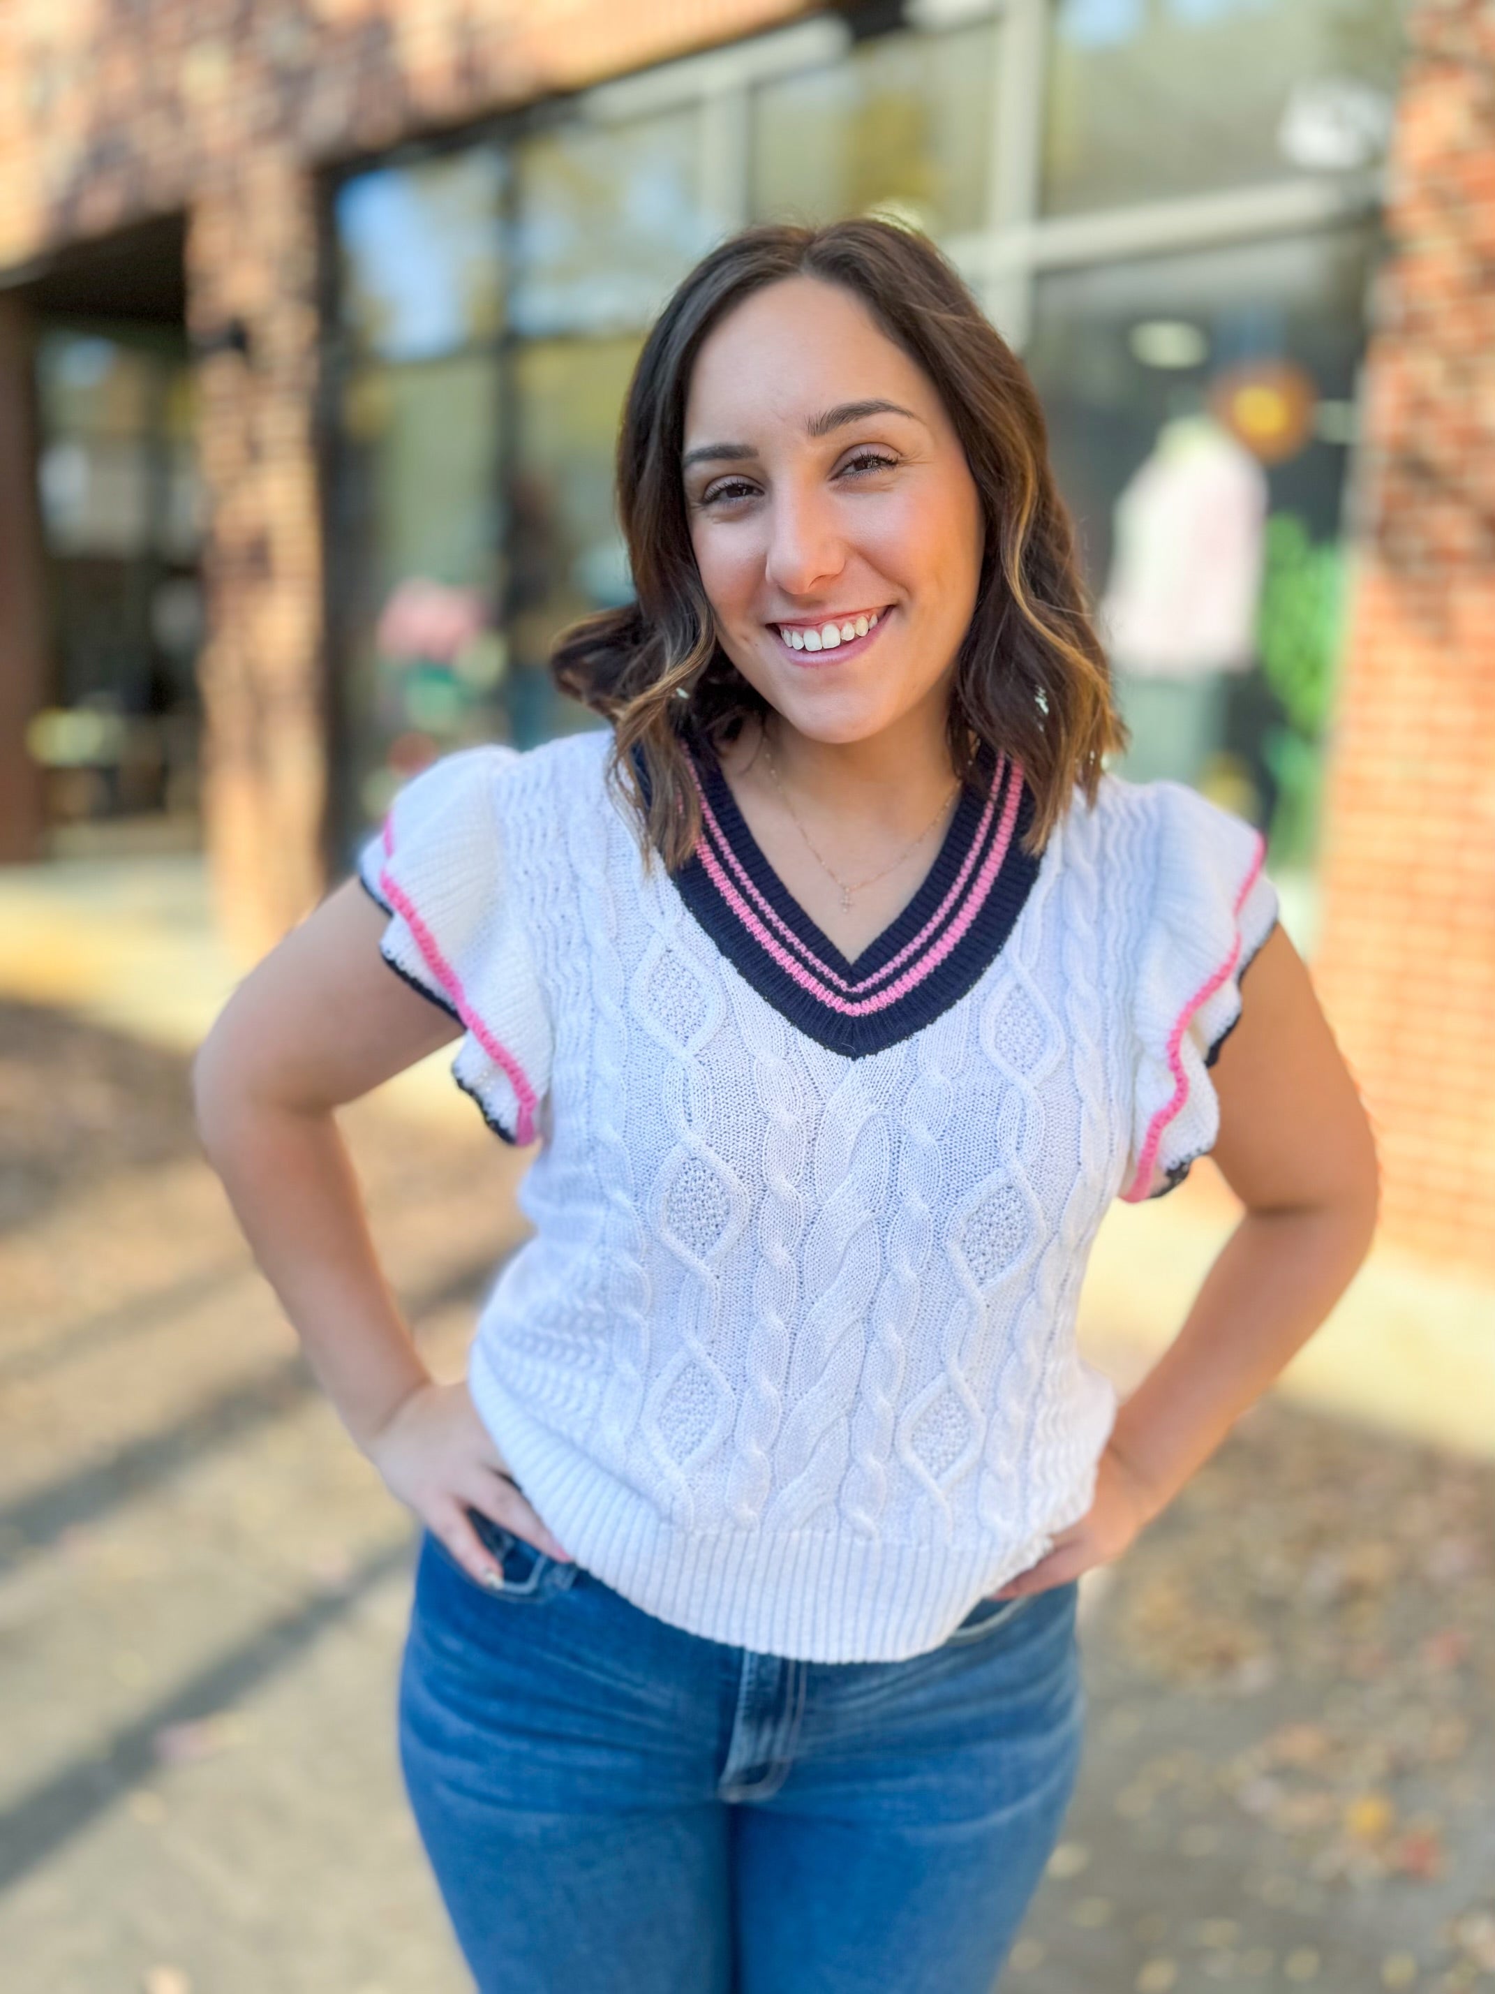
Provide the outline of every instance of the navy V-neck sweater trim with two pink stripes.
{"type": "Polygon", "coordinates": [[[714,762],[696,764],[702,835],[674,883],[728,961],[797,1031],[847,1059],[881,1053],[973,989],[1039,875],[1039,859],[1023,849],[1035,800],[1021,768],[1001,758],[983,776],[989,792],[961,792],[919,889],[855,961],[787,891],[714,762]]]}

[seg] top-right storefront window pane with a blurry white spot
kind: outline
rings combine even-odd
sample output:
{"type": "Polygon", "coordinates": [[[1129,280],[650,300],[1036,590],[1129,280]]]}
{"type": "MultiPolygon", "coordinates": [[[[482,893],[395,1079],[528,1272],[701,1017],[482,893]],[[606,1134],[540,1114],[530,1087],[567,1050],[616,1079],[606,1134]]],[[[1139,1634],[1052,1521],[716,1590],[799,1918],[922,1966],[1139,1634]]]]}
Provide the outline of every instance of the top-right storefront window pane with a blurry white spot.
{"type": "Polygon", "coordinates": [[[1399,0],[1054,0],[1045,209],[1373,167],[1399,0]]]}

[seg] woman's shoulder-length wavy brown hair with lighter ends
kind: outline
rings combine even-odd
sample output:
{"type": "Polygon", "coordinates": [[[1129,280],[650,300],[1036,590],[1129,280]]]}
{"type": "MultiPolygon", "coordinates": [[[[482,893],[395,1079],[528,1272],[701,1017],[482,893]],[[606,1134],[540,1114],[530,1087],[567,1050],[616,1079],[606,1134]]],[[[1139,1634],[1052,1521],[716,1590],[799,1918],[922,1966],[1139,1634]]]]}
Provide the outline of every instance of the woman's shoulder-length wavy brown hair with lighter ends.
{"type": "Polygon", "coordinates": [[[680,471],[686,397],[706,335],[785,277],[817,277],[861,299],[949,411],[985,518],[951,690],[951,760],[975,784],[989,752],[1023,764],[1037,804],[1027,841],[1041,851],[1076,784],[1094,800],[1102,756],[1126,736],[1033,381],[939,249],[897,223],[744,229],[680,283],[644,341],[618,437],[636,600],[560,634],[556,684],[612,722],[610,776],[636,812],[646,855],[658,849],[670,869],[684,865],[700,835],[690,756],[716,756],[749,714],[767,710],[722,650],[696,568],[680,471]]]}

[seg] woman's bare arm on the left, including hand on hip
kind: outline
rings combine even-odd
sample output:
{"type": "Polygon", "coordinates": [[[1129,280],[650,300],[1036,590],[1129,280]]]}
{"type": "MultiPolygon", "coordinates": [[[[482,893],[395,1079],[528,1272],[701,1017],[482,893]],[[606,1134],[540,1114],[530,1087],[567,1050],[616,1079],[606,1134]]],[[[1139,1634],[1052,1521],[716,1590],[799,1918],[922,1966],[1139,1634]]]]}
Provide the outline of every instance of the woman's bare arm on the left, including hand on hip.
{"type": "Polygon", "coordinates": [[[193,1061],[197,1131],[349,1434],[482,1577],[492,1559],[464,1505],[564,1553],[504,1480],[466,1388],[423,1364],[333,1117],[462,1031],[383,961],[387,919],[349,879],[245,977],[193,1061]]]}

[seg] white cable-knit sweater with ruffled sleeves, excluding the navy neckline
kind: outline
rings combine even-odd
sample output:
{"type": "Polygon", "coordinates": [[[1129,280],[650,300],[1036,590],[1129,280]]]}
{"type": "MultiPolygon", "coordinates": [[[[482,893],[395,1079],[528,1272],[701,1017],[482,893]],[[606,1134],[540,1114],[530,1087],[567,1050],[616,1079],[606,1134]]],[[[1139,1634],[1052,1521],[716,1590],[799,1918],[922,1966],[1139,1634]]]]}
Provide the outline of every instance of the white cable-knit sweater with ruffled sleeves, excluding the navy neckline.
{"type": "Polygon", "coordinates": [[[692,1633],[899,1661],[1041,1557],[1114,1418],[1074,1346],[1106,1206],[1218,1131],[1276,919],[1260,837],[1176,784],[1076,796],[985,973],[895,1045],[799,1031],[604,784],[608,738],[415,778],[361,877],[452,1071],[538,1135],[470,1390],[546,1525],[692,1633]]]}

